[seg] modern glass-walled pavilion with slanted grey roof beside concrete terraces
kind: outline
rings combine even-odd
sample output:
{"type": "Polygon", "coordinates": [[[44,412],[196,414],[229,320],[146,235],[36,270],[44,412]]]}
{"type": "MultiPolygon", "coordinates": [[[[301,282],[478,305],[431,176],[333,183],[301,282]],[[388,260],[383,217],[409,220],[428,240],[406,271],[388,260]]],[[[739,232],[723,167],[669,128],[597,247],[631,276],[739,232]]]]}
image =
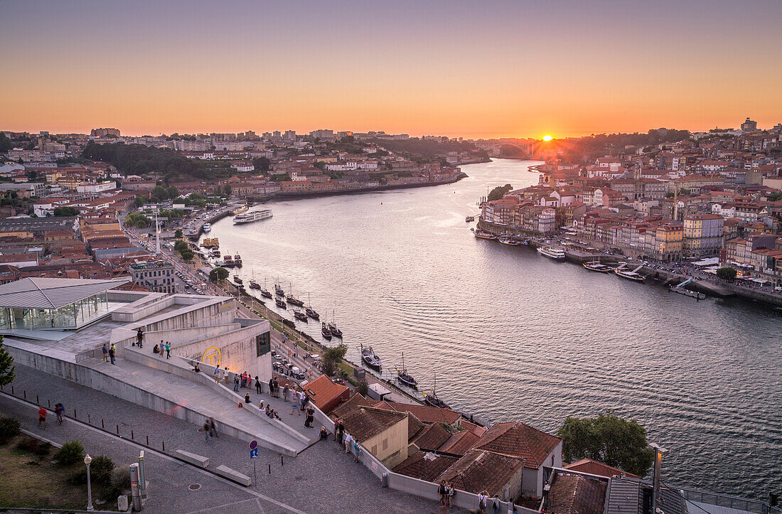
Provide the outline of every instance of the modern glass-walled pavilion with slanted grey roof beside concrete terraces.
{"type": "Polygon", "coordinates": [[[0,330],[77,329],[125,302],[109,300],[109,289],[127,279],[27,278],[0,286],[0,330]]]}

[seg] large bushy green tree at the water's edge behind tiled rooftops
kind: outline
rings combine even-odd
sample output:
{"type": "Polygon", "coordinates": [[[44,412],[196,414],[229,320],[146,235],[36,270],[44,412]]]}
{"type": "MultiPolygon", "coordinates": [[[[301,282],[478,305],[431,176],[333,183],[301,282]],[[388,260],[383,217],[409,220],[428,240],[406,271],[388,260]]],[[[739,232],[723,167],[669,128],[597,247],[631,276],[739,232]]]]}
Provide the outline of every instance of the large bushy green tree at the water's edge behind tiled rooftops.
{"type": "Polygon", "coordinates": [[[612,412],[597,418],[568,417],[557,435],[562,438],[562,459],[567,462],[591,458],[644,476],[655,459],[644,427],[612,412]]]}

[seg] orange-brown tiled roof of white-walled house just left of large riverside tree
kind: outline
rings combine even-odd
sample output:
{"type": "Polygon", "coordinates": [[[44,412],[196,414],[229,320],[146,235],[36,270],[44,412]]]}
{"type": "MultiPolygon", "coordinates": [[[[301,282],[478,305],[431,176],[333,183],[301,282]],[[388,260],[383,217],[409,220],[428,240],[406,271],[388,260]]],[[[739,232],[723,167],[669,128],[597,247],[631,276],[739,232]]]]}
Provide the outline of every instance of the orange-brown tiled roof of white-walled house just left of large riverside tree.
{"type": "Polygon", "coordinates": [[[527,468],[538,469],[560,443],[560,437],[517,421],[495,424],[480,438],[475,448],[526,458],[527,468]]]}

